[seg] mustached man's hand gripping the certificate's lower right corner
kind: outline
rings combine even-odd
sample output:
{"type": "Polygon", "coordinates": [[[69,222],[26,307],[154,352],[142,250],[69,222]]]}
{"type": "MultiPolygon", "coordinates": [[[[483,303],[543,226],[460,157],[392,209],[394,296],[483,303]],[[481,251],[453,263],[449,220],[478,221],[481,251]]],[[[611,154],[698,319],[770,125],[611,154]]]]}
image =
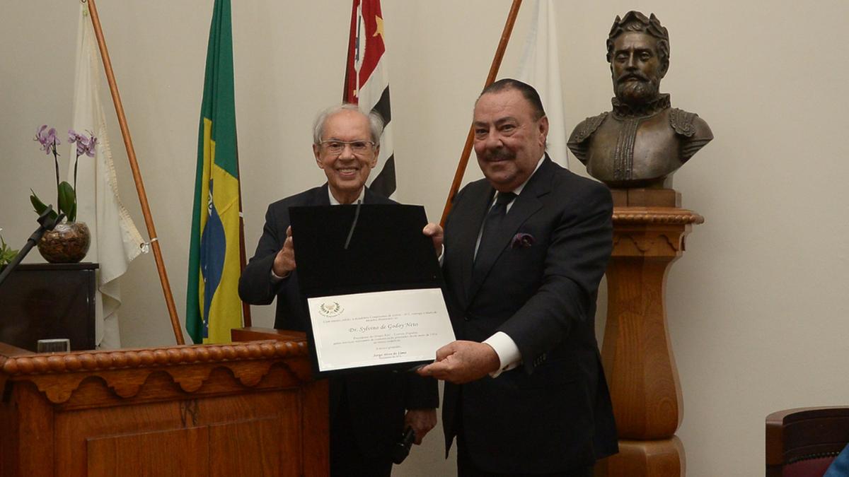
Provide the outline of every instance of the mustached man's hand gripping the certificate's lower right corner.
{"type": "Polygon", "coordinates": [[[476,341],[453,341],[436,350],[436,362],[419,369],[418,373],[464,384],[494,373],[500,366],[492,346],[476,341]]]}

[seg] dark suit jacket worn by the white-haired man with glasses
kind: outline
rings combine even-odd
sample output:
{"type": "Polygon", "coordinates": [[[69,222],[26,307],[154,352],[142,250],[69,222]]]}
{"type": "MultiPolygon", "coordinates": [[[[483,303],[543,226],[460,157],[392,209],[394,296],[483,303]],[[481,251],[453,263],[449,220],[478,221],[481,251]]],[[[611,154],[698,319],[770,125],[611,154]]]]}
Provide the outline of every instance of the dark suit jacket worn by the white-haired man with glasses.
{"type": "MultiPolygon", "coordinates": [[[[366,189],[365,204],[393,204],[366,189]]],[[[306,304],[298,288],[297,270],[279,283],[272,283],[274,257],[286,240],[289,208],[301,205],[330,205],[328,186],[311,188],[268,206],[265,227],[256,253],[239,279],[239,296],[252,305],[268,305],[277,298],[274,328],[305,331],[309,323],[306,304]]],[[[294,231],[295,242],[301,239],[294,231]]],[[[329,380],[331,432],[336,412],[345,402],[360,452],[368,457],[387,455],[401,436],[404,410],[434,408],[439,402],[436,382],[414,373],[360,373],[329,380]]]]}

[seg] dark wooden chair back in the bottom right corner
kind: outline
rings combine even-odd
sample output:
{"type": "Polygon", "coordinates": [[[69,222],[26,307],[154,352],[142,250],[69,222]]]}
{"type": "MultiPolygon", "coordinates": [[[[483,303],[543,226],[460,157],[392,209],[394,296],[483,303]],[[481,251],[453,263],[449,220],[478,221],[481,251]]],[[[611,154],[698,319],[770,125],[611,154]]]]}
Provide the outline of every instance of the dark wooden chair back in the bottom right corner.
{"type": "Polygon", "coordinates": [[[849,443],[849,406],[800,407],[767,416],[767,477],[822,477],[849,443]]]}

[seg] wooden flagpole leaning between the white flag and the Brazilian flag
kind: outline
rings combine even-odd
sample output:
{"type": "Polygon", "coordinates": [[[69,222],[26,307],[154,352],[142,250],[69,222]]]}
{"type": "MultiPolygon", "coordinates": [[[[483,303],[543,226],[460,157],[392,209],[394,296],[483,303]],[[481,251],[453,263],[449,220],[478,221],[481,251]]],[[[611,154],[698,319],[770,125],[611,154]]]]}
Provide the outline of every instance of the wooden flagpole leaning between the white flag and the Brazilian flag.
{"type": "Polygon", "coordinates": [[[168,315],[171,317],[171,326],[174,328],[174,338],[177,339],[177,345],[185,345],[183,340],[183,329],[180,328],[180,317],[177,316],[177,307],[174,306],[174,297],[171,295],[171,284],[168,283],[168,274],[165,270],[165,261],[162,260],[162,251],[158,236],[156,235],[156,227],[154,227],[153,216],[150,215],[150,207],[148,205],[148,196],[144,192],[144,183],[142,182],[142,174],[138,171],[138,162],[136,161],[136,150],[132,147],[132,137],[130,137],[130,128],[127,126],[127,116],[124,115],[124,106],[121,104],[121,96],[118,94],[118,85],[115,83],[115,73],[112,71],[112,62],[109,58],[109,52],[106,50],[106,41],[104,40],[103,30],[100,28],[100,18],[98,17],[98,9],[94,5],[94,0],[82,0],[83,3],[88,3],[88,14],[92,18],[94,26],[94,34],[98,38],[98,47],[100,48],[100,58],[104,62],[104,70],[106,70],[106,79],[109,81],[109,89],[112,93],[112,103],[115,104],[115,113],[118,115],[118,123],[121,125],[121,136],[124,137],[124,146],[127,148],[127,159],[130,160],[130,168],[132,169],[132,179],[136,182],[136,191],[138,192],[138,201],[142,205],[142,213],[144,214],[144,224],[148,227],[148,236],[150,238],[150,246],[154,250],[156,259],[156,270],[159,272],[160,283],[162,284],[162,293],[165,295],[166,306],[168,307],[168,315]]]}

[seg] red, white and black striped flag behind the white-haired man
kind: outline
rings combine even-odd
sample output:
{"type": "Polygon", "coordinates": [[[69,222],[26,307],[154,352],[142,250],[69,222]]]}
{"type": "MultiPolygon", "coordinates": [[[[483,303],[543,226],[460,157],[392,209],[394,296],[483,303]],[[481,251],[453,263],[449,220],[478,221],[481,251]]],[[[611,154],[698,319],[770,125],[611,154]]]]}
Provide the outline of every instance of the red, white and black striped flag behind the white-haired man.
{"type": "Polygon", "coordinates": [[[395,154],[385,51],[380,0],[353,0],[342,101],[359,104],[360,109],[366,113],[375,110],[383,117],[386,127],[380,136],[380,171],[376,175],[372,174],[369,188],[380,195],[391,197],[396,188],[395,154]]]}

